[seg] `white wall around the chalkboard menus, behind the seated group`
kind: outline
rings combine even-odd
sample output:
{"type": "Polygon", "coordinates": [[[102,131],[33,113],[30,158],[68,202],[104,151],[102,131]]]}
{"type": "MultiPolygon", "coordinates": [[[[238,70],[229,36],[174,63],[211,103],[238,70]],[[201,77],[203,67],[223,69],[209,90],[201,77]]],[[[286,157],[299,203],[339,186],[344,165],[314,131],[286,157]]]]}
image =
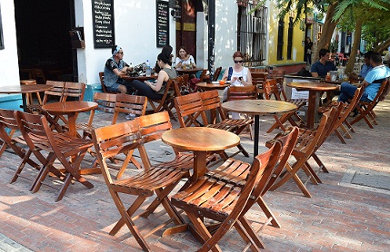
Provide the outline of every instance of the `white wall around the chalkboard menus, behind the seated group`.
{"type": "MultiPolygon", "coordinates": [[[[105,61],[111,56],[111,49],[95,49],[92,21],[92,1],[75,0],[82,2],[76,7],[83,11],[75,11],[79,26],[84,26],[85,49],[77,49],[79,62],[79,81],[87,84],[99,83],[98,73],[102,72],[105,61]],[[84,15],[81,19],[79,15],[84,15]],[[84,23],[84,24],[83,24],[84,23]]],[[[155,0],[115,0],[115,44],[124,50],[126,63],[144,63],[149,60],[152,65],[161,48],[155,44],[155,0]]],[[[171,17],[169,15],[169,17],[171,17]]],[[[170,22],[170,44],[175,52],[175,22],[170,22]]]]}

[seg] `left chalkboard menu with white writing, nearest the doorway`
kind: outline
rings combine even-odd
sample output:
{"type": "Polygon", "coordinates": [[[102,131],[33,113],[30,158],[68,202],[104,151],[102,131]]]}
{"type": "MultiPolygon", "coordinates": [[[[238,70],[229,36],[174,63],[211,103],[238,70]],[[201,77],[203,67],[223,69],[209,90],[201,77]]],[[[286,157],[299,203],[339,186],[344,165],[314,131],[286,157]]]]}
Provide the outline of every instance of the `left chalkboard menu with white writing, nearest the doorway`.
{"type": "Polygon", "coordinates": [[[92,0],[95,48],[108,48],[115,45],[114,0],[92,0]]]}

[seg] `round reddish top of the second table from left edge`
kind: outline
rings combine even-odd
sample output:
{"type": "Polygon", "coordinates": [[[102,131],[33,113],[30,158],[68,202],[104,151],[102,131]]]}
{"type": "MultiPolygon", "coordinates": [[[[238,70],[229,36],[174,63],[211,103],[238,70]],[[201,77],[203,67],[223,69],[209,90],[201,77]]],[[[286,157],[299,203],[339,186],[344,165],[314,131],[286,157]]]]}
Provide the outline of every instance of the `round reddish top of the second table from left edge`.
{"type": "Polygon", "coordinates": [[[53,102],[42,106],[42,109],[51,113],[75,113],[90,111],[95,108],[97,108],[96,102],[85,101],[53,102]]]}

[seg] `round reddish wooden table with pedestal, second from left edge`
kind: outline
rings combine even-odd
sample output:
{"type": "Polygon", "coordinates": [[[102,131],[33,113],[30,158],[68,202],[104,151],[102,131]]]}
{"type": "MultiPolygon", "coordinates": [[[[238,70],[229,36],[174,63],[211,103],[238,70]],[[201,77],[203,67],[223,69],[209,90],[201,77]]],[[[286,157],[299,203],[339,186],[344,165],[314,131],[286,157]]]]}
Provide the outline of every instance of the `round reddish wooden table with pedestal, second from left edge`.
{"type": "Polygon", "coordinates": [[[79,112],[92,111],[97,108],[96,102],[85,101],[69,101],[69,102],[53,102],[42,106],[42,109],[53,115],[67,115],[67,126],[69,134],[76,136],[75,121],[79,112]]]}

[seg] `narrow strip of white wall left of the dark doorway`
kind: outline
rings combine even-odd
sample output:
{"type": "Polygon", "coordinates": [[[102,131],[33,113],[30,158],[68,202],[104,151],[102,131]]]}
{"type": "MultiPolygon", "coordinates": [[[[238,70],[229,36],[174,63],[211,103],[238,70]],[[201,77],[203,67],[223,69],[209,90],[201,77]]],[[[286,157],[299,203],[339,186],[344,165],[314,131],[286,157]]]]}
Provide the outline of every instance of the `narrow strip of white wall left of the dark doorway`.
{"type": "Polygon", "coordinates": [[[0,50],[0,87],[19,84],[14,1],[0,0],[5,49],[0,50]]]}

